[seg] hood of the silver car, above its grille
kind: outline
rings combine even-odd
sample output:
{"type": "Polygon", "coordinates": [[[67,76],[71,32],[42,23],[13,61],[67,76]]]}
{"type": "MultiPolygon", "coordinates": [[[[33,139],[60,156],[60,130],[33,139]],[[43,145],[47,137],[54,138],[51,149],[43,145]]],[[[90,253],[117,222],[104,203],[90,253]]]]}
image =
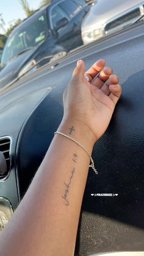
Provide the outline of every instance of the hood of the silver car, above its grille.
{"type": "Polygon", "coordinates": [[[103,27],[107,20],[143,3],[142,0],[98,0],[82,21],[82,32],[92,27],[103,27]]]}

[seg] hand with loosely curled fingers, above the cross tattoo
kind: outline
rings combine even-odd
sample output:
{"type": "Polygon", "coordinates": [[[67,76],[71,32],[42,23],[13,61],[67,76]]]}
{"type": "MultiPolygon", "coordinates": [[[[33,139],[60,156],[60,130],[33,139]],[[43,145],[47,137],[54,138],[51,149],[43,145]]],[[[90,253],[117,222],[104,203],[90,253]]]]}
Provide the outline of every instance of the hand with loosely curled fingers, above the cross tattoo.
{"type": "Polygon", "coordinates": [[[79,60],[73,78],[63,93],[63,120],[74,120],[87,127],[94,143],[106,131],[121,95],[118,77],[112,75],[112,68],[104,68],[104,65],[105,60],[100,59],[85,73],[84,62],[79,60]],[[98,78],[92,82],[102,68],[98,78]],[[89,82],[84,75],[87,75],[89,82]],[[105,81],[107,84],[104,85],[105,81]]]}

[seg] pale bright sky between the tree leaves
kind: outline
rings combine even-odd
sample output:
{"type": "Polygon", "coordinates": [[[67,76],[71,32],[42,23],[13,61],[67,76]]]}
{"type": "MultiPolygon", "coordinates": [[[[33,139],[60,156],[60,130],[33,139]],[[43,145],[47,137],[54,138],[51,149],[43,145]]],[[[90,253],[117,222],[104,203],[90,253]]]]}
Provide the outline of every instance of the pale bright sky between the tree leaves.
{"type": "MultiPolygon", "coordinates": [[[[38,9],[41,0],[27,0],[30,9],[38,9]]],[[[19,0],[0,0],[0,14],[2,13],[2,18],[5,22],[5,29],[13,24],[13,21],[18,20],[18,18],[26,18],[23,7],[19,0]]],[[[1,23],[1,21],[0,21],[1,23]]],[[[0,27],[0,34],[4,34],[4,30],[0,27]]]]}

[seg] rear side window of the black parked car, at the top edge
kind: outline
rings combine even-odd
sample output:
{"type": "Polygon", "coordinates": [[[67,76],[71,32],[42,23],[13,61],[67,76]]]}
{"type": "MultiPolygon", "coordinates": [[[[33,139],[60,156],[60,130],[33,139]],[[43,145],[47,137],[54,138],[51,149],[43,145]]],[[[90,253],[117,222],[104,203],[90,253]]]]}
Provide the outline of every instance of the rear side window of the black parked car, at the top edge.
{"type": "Polygon", "coordinates": [[[73,18],[73,16],[76,15],[76,13],[82,9],[81,4],[78,4],[77,2],[73,2],[71,0],[60,2],[59,6],[62,8],[64,12],[67,13],[69,18],[73,18]]]}

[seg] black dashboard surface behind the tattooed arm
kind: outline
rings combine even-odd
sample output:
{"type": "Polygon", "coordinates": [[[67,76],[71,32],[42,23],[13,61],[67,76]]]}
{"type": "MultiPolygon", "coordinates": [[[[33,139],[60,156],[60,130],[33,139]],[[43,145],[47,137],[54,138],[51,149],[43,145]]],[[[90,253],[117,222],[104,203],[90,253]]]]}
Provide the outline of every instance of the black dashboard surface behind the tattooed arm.
{"type": "MultiPolygon", "coordinates": [[[[120,76],[123,94],[109,128],[93,148],[98,175],[91,170],[88,174],[75,255],[144,251],[143,25],[81,48],[57,67],[43,67],[1,95],[0,136],[13,139],[18,195],[23,197],[59,126],[63,90],[81,58],[87,68],[106,59],[120,76]],[[115,196],[93,195],[100,193],[115,196]]],[[[0,183],[1,196],[10,177],[0,183]]]]}

